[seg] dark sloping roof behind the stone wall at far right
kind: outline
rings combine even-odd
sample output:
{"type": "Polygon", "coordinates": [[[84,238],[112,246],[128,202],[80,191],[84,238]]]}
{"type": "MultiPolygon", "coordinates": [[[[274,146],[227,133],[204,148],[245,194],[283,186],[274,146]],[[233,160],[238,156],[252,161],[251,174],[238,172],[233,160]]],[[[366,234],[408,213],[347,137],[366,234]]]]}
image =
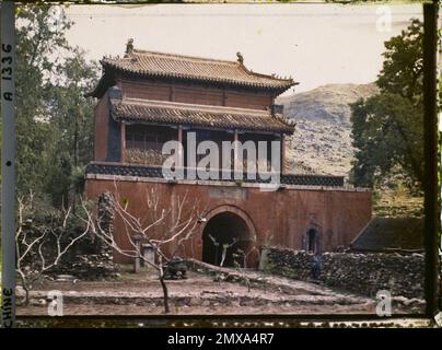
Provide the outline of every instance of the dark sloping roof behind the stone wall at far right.
{"type": "Polygon", "coordinates": [[[350,247],[358,252],[423,250],[423,220],[373,218],[350,247]]]}

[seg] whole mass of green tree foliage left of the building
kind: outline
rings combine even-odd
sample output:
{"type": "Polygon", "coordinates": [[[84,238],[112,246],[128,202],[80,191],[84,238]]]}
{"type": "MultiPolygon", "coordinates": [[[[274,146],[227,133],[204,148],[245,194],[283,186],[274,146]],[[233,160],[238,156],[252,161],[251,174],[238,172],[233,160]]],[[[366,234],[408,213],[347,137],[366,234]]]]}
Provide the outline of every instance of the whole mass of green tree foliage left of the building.
{"type": "Polygon", "coordinates": [[[16,185],[54,205],[72,197],[74,174],[92,159],[97,65],[71,47],[60,7],[21,5],[16,28],[16,185]]]}

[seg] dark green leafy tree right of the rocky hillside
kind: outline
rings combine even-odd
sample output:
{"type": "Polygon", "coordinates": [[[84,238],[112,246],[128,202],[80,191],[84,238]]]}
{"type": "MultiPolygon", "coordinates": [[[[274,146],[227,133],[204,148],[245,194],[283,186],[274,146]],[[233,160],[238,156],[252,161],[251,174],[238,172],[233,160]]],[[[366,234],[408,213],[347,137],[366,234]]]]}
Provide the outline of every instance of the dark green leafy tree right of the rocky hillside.
{"type": "Polygon", "coordinates": [[[423,182],[423,25],[418,20],[385,42],[380,93],[351,106],[356,161],[351,179],[373,187],[399,172],[420,189],[423,182]]]}

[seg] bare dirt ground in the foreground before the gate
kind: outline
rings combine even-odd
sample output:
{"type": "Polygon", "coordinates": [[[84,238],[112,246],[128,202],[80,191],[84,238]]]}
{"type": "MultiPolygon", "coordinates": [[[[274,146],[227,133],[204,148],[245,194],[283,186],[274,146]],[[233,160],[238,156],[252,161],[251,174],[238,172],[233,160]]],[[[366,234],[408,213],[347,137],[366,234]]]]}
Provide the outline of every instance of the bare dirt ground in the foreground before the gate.
{"type": "MultiPolygon", "coordinates": [[[[171,314],[375,314],[376,300],[336,291],[315,283],[260,276],[265,283],[214,281],[207,273],[188,272],[184,280],[168,280],[171,314]]],[[[149,271],[125,272],[112,281],[50,281],[32,292],[28,306],[18,315],[47,315],[48,291],[61,291],[63,315],[161,315],[163,293],[158,277],[149,271]]],[[[18,292],[19,300],[23,292],[18,292]]],[[[415,301],[394,303],[393,313],[419,312],[415,301]]]]}

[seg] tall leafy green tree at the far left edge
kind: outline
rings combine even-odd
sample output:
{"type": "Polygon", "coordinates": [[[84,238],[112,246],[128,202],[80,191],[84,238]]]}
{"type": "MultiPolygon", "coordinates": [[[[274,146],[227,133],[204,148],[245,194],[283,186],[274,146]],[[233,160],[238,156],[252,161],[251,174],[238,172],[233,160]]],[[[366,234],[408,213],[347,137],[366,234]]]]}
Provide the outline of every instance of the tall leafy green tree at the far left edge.
{"type": "Polygon", "coordinates": [[[16,30],[16,184],[19,194],[42,192],[55,152],[56,130],[47,113],[48,86],[63,32],[71,23],[49,5],[18,9],[16,30]]]}

